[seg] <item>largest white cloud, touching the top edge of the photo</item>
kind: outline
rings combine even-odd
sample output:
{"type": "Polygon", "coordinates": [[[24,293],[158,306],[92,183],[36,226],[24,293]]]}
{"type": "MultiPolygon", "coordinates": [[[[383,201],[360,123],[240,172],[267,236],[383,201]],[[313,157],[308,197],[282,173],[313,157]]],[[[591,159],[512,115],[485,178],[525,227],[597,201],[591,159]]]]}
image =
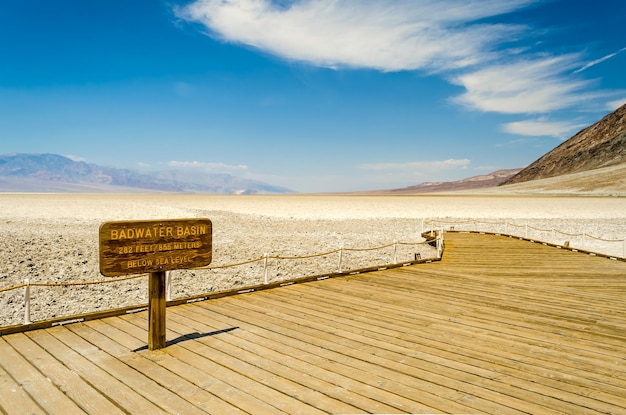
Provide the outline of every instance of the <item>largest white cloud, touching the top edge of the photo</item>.
{"type": "Polygon", "coordinates": [[[198,0],[180,17],[214,36],[325,67],[382,71],[466,67],[524,27],[472,24],[535,0],[198,0]]]}

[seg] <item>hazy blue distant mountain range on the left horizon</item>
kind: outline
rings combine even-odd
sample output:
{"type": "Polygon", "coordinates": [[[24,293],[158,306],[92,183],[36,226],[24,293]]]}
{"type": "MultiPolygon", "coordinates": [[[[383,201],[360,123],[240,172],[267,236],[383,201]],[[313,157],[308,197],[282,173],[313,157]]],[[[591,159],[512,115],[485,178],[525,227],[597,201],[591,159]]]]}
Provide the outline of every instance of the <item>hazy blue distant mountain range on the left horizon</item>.
{"type": "Polygon", "coordinates": [[[229,174],[183,170],[140,173],[74,161],[57,154],[0,156],[2,192],[282,194],[293,191],[229,174]]]}

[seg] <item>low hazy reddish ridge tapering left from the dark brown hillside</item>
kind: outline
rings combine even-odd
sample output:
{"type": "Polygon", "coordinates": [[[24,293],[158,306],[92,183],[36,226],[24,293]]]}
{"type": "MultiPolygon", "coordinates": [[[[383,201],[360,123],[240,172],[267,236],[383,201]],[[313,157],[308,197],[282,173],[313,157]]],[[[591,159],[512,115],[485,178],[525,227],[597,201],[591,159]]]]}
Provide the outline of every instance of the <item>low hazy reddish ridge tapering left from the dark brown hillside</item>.
{"type": "Polygon", "coordinates": [[[452,182],[427,182],[415,186],[403,187],[400,189],[379,190],[367,193],[376,194],[396,194],[408,195],[417,193],[437,193],[437,192],[454,192],[461,190],[476,190],[488,187],[498,186],[500,183],[508,180],[521,169],[498,170],[493,173],[473,176],[467,179],[456,180],[452,182]]]}

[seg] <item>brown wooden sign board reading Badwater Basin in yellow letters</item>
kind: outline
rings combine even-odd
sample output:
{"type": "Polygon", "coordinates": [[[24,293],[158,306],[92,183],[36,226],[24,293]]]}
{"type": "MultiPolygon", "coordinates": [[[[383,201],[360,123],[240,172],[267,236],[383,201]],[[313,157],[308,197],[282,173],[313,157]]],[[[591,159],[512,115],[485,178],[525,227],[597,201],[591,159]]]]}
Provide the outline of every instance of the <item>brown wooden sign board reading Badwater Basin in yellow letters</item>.
{"type": "Polygon", "coordinates": [[[206,218],[105,222],[100,272],[116,277],[209,265],[212,232],[206,218]]]}

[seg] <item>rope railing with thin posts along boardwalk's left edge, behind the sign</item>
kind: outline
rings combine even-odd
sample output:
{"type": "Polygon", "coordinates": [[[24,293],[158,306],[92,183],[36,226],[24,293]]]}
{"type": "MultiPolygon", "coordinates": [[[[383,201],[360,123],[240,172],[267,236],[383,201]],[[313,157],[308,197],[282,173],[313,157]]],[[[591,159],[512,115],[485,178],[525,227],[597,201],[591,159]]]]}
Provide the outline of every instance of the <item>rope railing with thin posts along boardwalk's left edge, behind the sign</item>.
{"type": "MultiPolygon", "coordinates": [[[[240,261],[240,262],[236,262],[236,263],[230,263],[230,264],[223,264],[223,265],[211,265],[211,266],[206,266],[206,267],[199,267],[199,268],[192,268],[191,270],[207,270],[207,271],[211,271],[211,270],[220,270],[220,269],[226,269],[226,268],[234,268],[234,267],[239,267],[239,266],[243,266],[243,265],[248,265],[248,264],[252,264],[252,263],[256,263],[256,262],[263,262],[263,279],[264,279],[264,284],[268,284],[269,283],[269,278],[268,278],[268,268],[269,268],[269,264],[268,264],[268,260],[272,259],[272,260],[298,260],[298,259],[310,259],[310,258],[316,258],[316,257],[326,257],[328,255],[332,255],[332,254],[336,254],[338,253],[338,263],[337,263],[337,273],[341,274],[343,273],[343,254],[346,251],[353,251],[353,252],[365,252],[365,251],[376,251],[376,250],[380,250],[380,249],[385,249],[385,248],[389,248],[391,246],[394,246],[394,252],[393,252],[393,264],[397,264],[397,246],[398,245],[411,245],[411,246],[416,246],[416,245],[425,245],[427,244],[427,242],[424,241],[420,241],[420,242],[399,242],[399,241],[394,241],[392,243],[389,244],[384,244],[384,245],[380,245],[380,246],[375,246],[375,247],[369,247],[369,248],[346,248],[346,247],[341,247],[338,249],[333,249],[330,251],[325,251],[325,252],[321,252],[321,253],[315,253],[315,254],[306,254],[306,255],[269,255],[267,253],[263,254],[262,256],[256,257],[256,258],[252,258],[249,260],[244,260],[244,261],[240,261]]],[[[437,250],[437,257],[440,258],[441,257],[441,253],[439,250],[437,250]]],[[[409,261],[410,262],[410,261],[409,261]]],[[[137,278],[143,278],[146,277],[148,274],[137,274],[137,275],[130,275],[130,276],[125,276],[125,277],[120,277],[120,278],[107,278],[107,279],[102,279],[102,280],[96,280],[96,281],[76,281],[76,282],[36,282],[36,281],[30,281],[29,279],[25,279],[24,282],[22,284],[17,284],[14,286],[10,286],[10,287],[3,287],[0,288],[0,293],[4,293],[4,292],[8,292],[8,291],[13,291],[13,290],[19,290],[19,289],[24,289],[24,320],[23,320],[23,324],[31,324],[31,313],[30,313],[30,303],[31,303],[31,292],[30,289],[31,287],[71,287],[71,286],[88,286],[88,285],[97,285],[97,284],[111,284],[111,283],[116,283],[116,282],[121,282],[121,281],[127,281],[127,280],[132,280],[132,279],[137,279],[137,278]]],[[[172,282],[171,282],[171,277],[170,277],[170,273],[167,273],[167,281],[166,281],[166,299],[168,301],[172,300],[171,298],[171,292],[172,292],[172,282]]]]}

